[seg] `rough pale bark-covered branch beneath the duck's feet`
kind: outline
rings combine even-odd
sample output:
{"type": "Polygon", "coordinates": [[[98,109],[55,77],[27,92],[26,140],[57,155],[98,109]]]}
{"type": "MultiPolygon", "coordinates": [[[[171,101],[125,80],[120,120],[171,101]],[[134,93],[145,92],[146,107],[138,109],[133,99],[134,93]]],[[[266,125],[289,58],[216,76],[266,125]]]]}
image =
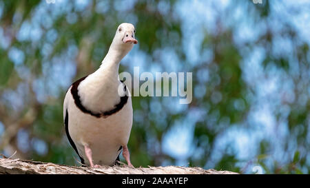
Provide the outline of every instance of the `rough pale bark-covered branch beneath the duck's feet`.
{"type": "Polygon", "coordinates": [[[42,163],[32,160],[0,158],[0,174],[237,174],[232,171],[216,171],[199,167],[75,167],[42,163]]]}

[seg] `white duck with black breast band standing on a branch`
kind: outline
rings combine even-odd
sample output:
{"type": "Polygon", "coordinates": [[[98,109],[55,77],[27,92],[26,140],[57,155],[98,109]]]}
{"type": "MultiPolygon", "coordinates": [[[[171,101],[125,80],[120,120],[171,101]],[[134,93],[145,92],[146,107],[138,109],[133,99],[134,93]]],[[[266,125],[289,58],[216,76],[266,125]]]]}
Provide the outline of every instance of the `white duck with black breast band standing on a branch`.
{"type": "Polygon", "coordinates": [[[130,163],[127,143],[132,129],[132,99],[121,83],[121,59],[138,43],[130,23],[118,26],[107,55],[96,72],[72,83],[63,103],[65,132],[81,163],[90,167],[114,165],[123,156],[130,163]]]}

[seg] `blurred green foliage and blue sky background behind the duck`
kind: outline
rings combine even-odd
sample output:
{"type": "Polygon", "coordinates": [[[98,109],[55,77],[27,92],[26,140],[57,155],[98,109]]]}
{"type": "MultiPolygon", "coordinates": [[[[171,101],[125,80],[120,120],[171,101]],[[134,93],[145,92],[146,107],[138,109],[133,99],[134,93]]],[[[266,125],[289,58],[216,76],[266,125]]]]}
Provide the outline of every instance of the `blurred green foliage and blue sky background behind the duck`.
{"type": "Polygon", "coordinates": [[[120,72],[193,72],[189,105],[132,98],[136,167],[309,174],[309,13],[301,0],[0,1],[0,154],[79,165],[65,92],[129,22],[139,43],[120,72]]]}

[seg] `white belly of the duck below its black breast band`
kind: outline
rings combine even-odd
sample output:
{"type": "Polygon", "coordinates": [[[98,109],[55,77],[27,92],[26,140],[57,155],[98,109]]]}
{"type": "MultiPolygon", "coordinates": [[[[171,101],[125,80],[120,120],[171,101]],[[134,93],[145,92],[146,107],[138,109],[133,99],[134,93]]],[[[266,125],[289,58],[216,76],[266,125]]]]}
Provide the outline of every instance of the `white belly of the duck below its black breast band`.
{"type": "Polygon", "coordinates": [[[118,149],[127,145],[130,138],[133,114],[131,98],[120,111],[107,118],[96,118],[81,112],[72,96],[68,98],[68,129],[79,154],[88,164],[84,152],[84,145],[87,145],[92,149],[94,163],[112,165],[121,152],[118,149]]]}

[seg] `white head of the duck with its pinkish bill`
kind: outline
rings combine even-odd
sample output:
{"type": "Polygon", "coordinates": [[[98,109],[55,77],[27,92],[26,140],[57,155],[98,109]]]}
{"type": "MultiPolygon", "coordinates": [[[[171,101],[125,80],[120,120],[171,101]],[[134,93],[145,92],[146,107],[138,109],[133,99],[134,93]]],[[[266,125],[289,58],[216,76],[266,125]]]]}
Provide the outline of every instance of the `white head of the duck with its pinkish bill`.
{"type": "Polygon", "coordinates": [[[112,45],[118,50],[131,50],[134,44],[138,43],[135,39],[136,30],[131,23],[121,23],[118,25],[112,45]]]}

